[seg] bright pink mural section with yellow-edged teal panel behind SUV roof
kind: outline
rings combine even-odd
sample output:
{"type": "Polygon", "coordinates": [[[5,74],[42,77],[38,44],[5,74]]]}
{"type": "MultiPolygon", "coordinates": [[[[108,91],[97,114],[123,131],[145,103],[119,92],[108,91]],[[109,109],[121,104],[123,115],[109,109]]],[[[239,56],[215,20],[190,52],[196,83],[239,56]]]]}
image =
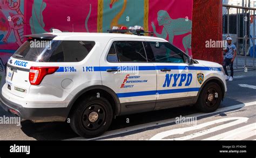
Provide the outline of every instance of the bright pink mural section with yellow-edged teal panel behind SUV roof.
{"type": "Polygon", "coordinates": [[[27,1],[25,34],[49,32],[51,28],[69,32],[107,32],[113,26],[139,25],[192,55],[192,0],[84,2],[81,0],[27,1]],[[56,8],[60,4],[65,5],[56,8]]]}

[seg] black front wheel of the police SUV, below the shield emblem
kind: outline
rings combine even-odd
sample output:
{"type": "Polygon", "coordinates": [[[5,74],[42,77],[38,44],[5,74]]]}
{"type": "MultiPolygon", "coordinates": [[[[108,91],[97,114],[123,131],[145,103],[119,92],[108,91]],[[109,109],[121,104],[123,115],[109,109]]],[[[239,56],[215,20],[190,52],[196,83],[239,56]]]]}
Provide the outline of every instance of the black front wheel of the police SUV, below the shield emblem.
{"type": "Polygon", "coordinates": [[[199,94],[196,107],[202,112],[213,112],[218,109],[222,96],[221,88],[217,83],[207,83],[199,94]]]}

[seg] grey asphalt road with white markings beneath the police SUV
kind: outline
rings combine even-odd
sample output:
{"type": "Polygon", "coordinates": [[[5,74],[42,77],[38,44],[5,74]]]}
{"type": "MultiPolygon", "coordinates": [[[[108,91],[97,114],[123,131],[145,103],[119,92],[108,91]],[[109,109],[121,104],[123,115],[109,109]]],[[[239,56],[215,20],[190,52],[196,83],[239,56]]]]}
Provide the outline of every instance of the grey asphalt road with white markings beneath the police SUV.
{"type": "MultiPolygon", "coordinates": [[[[96,140],[256,140],[256,71],[236,72],[220,108],[200,113],[192,106],[120,116],[96,140]],[[178,122],[177,117],[187,119],[178,122]],[[129,123],[127,123],[129,120],[129,123]]],[[[0,107],[0,117],[12,116],[0,107]]],[[[87,140],[67,123],[0,125],[0,140],[87,140]]]]}

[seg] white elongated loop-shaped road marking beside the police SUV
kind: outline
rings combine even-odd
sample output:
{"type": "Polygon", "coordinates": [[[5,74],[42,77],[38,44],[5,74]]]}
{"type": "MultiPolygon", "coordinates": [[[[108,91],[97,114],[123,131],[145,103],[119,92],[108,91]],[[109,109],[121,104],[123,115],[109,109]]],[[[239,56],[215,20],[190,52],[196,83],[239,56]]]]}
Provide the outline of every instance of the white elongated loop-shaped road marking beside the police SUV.
{"type": "Polygon", "coordinates": [[[246,117],[231,117],[231,118],[213,120],[213,121],[203,123],[200,125],[196,125],[196,126],[192,126],[192,127],[178,128],[178,129],[174,129],[174,130],[170,130],[170,131],[161,132],[161,133],[154,135],[154,137],[152,137],[150,140],[188,140],[188,139],[200,137],[200,136],[208,134],[208,133],[219,131],[219,130],[222,130],[227,127],[245,123],[247,120],[248,120],[248,118],[246,118],[246,117]],[[204,128],[204,127],[207,127],[210,125],[224,123],[225,121],[230,121],[230,120],[236,120],[236,121],[232,121],[231,123],[223,124],[223,125],[216,126],[216,127],[204,130],[204,131],[193,133],[193,134],[187,135],[185,137],[173,138],[173,139],[163,139],[165,137],[170,137],[171,135],[174,135],[174,134],[184,134],[185,132],[199,130],[201,128],[204,128]]]}

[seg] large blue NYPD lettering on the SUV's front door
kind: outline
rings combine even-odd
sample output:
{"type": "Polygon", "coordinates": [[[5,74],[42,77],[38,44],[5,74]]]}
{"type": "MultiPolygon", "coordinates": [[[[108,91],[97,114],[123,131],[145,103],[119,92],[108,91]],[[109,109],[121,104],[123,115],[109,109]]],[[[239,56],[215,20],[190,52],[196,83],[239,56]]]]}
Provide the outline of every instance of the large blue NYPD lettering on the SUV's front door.
{"type": "Polygon", "coordinates": [[[163,87],[189,86],[192,82],[192,78],[192,74],[166,74],[163,87]]]}

